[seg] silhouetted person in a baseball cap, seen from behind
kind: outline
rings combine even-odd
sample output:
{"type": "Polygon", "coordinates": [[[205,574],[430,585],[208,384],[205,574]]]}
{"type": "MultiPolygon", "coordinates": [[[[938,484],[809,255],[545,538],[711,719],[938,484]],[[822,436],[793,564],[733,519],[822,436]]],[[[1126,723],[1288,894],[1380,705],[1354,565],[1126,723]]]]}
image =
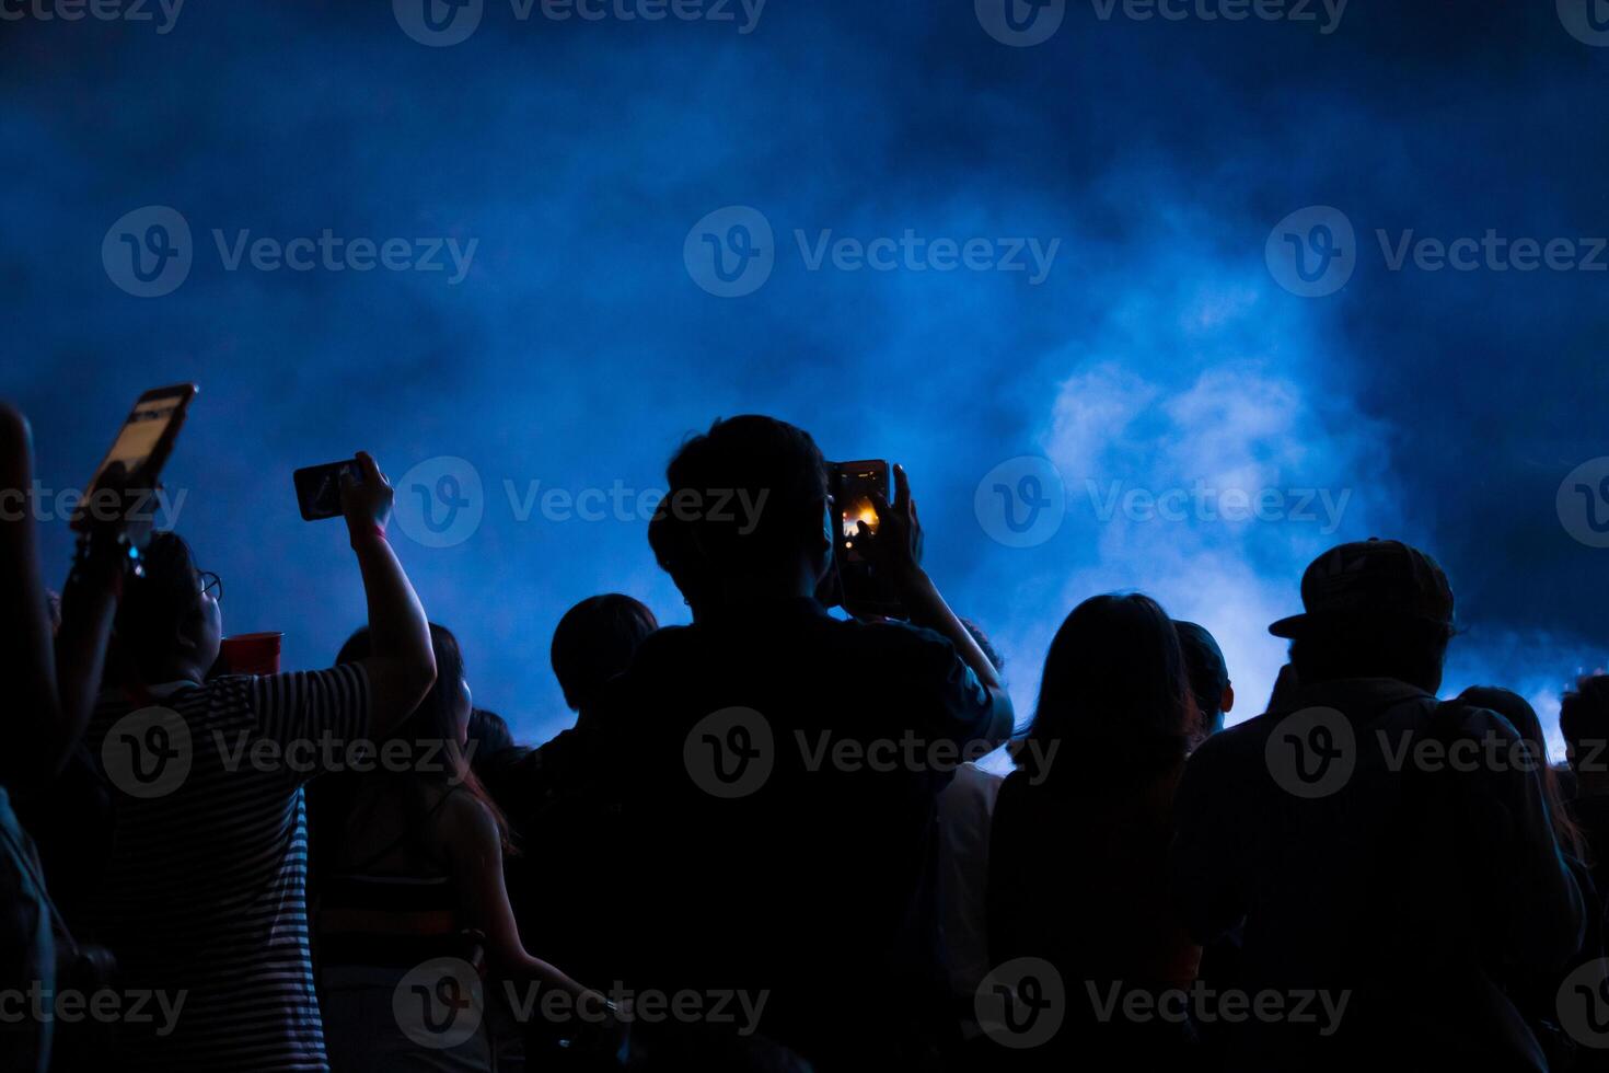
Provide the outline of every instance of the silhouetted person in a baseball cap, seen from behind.
{"type": "Polygon", "coordinates": [[[1302,606],[1270,627],[1295,680],[1195,751],[1175,808],[1191,933],[1244,927],[1244,989],[1282,997],[1220,1020],[1231,1067],[1545,1070],[1504,981],[1561,970],[1583,902],[1521,735],[1435,698],[1446,574],[1400,541],[1342,544],[1302,606]]]}

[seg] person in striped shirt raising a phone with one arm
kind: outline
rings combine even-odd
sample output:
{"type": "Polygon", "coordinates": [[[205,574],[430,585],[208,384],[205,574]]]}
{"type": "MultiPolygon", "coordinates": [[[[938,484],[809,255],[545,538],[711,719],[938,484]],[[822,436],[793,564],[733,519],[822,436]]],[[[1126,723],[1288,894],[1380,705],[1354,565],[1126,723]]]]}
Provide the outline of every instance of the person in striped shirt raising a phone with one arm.
{"type": "Polygon", "coordinates": [[[124,1068],[327,1070],[307,936],[304,783],[385,737],[434,682],[425,610],[386,541],[393,491],[359,454],[343,510],[373,653],[319,672],[227,676],[220,582],[153,537],[119,608],[113,680],[85,743],[113,787],[113,849],[88,909],[126,988],[124,1068]],[[159,1012],[158,1012],[159,1010],[159,1012]]]}

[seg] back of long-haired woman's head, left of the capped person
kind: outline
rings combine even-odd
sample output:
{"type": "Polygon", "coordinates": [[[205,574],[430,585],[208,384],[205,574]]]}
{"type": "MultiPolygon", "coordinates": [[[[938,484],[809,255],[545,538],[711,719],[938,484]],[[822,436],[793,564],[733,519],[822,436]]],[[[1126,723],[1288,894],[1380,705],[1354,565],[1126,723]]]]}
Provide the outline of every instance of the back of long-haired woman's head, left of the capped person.
{"type": "MultiPolygon", "coordinates": [[[[1056,631],[1028,743],[1060,742],[1057,782],[1110,785],[1184,758],[1195,719],[1184,655],[1168,613],[1141,594],[1091,597],[1056,631]],[[1078,756],[1068,763],[1065,758],[1078,756]]],[[[1017,751],[1031,767],[1036,750],[1017,751]]],[[[1047,750],[1038,750],[1043,758],[1047,750]]]]}

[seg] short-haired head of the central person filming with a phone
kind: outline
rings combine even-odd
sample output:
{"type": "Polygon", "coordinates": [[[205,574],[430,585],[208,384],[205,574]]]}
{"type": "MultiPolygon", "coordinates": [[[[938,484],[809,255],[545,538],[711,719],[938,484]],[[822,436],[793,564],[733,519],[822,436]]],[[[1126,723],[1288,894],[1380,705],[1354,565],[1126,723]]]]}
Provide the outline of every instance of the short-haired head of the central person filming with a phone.
{"type": "Polygon", "coordinates": [[[666,467],[673,518],[689,523],[721,598],[814,595],[832,563],[827,467],[809,433],[771,417],[718,420],[666,467]]]}

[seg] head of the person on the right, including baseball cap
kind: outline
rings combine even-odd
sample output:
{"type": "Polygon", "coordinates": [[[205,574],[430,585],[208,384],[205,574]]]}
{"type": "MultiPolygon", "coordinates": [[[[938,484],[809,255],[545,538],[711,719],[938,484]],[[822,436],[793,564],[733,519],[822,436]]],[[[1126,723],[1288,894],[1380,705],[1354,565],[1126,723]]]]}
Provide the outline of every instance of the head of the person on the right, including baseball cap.
{"type": "Polygon", "coordinates": [[[1376,537],[1332,547],[1302,574],[1302,606],[1268,632],[1290,640],[1303,687],[1355,677],[1442,687],[1453,589],[1419,549],[1376,537]]]}

